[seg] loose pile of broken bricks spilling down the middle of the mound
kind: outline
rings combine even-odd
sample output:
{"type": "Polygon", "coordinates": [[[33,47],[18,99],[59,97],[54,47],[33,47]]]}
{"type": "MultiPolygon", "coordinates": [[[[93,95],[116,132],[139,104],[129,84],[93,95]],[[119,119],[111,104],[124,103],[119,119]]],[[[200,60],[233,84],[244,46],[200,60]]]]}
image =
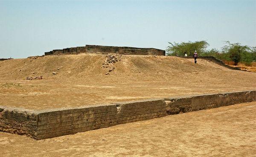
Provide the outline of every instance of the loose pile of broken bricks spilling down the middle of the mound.
{"type": "MultiPolygon", "coordinates": [[[[106,55],[105,61],[102,64],[103,68],[108,68],[108,72],[111,72],[115,69],[114,64],[117,61],[121,61],[121,56],[119,54],[116,55],[106,55]]],[[[108,75],[109,73],[106,73],[106,75],[108,75]]]]}

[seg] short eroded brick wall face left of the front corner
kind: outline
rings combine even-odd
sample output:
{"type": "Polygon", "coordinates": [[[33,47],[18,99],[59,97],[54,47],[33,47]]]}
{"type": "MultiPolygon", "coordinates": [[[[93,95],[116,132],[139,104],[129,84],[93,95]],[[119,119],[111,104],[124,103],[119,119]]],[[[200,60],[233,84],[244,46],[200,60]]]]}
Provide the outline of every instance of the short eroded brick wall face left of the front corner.
{"type": "Polygon", "coordinates": [[[37,114],[20,108],[0,106],[0,131],[36,138],[37,114]]]}

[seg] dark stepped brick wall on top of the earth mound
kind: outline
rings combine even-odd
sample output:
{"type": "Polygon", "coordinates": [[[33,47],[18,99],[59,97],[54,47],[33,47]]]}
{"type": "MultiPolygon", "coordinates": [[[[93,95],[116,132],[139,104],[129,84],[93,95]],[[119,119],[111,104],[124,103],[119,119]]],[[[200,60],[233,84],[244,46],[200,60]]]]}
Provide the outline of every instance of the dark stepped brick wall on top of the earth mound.
{"type": "Polygon", "coordinates": [[[76,53],[118,53],[128,55],[165,55],[165,50],[137,47],[112,47],[100,45],[86,45],[85,47],[71,47],[66,49],[54,49],[45,52],[45,55],[76,54],[76,53]]]}

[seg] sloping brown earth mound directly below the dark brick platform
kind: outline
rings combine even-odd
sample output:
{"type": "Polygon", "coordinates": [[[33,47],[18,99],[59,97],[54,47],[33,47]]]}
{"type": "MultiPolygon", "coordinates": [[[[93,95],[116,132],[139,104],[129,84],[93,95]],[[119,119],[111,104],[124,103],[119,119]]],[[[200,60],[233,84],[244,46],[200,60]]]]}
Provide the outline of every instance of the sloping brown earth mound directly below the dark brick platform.
{"type": "Polygon", "coordinates": [[[230,71],[205,60],[194,64],[189,59],[168,56],[117,55],[117,57],[118,59],[116,55],[80,54],[13,59],[0,62],[0,76],[1,79],[7,80],[43,76],[44,79],[50,80],[72,78],[77,81],[84,79],[109,81],[109,78],[122,78],[126,81],[177,78],[179,81],[188,77],[197,78],[199,73],[230,71]],[[115,57],[114,62],[111,60],[113,58],[109,58],[110,56],[115,57]],[[105,77],[106,73],[110,76],[105,77]]]}

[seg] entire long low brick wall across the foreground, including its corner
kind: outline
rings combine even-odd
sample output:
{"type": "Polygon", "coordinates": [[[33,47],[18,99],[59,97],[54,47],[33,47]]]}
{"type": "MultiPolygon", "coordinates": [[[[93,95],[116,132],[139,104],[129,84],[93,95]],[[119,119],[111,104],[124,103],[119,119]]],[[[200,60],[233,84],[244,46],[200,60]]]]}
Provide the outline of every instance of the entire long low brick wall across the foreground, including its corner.
{"type": "Polygon", "coordinates": [[[0,106],[0,131],[40,140],[252,101],[256,101],[256,90],[39,111],[0,106]]]}

